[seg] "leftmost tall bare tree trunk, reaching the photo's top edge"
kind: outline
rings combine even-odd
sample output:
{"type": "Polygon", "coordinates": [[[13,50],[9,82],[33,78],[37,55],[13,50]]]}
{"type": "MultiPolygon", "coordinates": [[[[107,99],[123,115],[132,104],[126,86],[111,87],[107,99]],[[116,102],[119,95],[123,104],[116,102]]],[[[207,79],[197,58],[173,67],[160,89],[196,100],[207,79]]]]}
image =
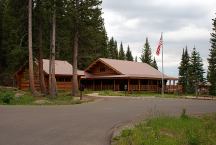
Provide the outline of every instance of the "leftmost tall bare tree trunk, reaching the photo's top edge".
{"type": "Polygon", "coordinates": [[[33,95],[36,95],[34,83],[33,55],[32,55],[32,0],[28,5],[28,49],[29,49],[29,85],[33,95]]]}

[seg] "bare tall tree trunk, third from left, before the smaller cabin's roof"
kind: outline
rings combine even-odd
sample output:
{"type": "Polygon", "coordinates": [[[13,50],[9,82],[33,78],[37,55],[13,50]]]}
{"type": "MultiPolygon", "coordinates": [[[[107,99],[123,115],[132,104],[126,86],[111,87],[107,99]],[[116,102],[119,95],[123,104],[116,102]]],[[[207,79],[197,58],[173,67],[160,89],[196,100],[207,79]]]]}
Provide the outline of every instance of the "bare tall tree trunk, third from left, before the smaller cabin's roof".
{"type": "Polygon", "coordinates": [[[51,42],[51,54],[50,54],[50,74],[49,74],[49,93],[50,97],[56,96],[56,79],[55,79],[55,41],[56,41],[56,11],[55,4],[52,17],[52,42],[51,42]]]}

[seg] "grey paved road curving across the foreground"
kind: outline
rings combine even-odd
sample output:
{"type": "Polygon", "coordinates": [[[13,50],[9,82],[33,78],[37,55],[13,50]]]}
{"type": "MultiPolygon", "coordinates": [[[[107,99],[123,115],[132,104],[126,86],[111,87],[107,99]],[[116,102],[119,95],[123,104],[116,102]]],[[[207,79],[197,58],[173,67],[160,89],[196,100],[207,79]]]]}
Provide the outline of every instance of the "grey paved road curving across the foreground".
{"type": "Polygon", "coordinates": [[[113,128],[154,114],[216,112],[216,101],[109,98],[74,106],[0,106],[0,145],[108,145],[113,128]]]}

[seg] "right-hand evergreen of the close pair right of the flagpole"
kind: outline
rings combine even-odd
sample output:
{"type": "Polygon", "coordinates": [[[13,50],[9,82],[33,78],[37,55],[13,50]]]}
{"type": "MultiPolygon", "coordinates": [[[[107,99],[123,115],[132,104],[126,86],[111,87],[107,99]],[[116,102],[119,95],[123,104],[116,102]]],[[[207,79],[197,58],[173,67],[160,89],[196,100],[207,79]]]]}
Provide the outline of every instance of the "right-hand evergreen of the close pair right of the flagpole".
{"type": "Polygon", "coordinates": [[[190,57],[190,66],[189,66],[189,93],[197,93],[198,85],[204,83],[204,69],[202,58],[200,57],[199,52],[196,51],[196,48],[193,48],[190,57]]]}

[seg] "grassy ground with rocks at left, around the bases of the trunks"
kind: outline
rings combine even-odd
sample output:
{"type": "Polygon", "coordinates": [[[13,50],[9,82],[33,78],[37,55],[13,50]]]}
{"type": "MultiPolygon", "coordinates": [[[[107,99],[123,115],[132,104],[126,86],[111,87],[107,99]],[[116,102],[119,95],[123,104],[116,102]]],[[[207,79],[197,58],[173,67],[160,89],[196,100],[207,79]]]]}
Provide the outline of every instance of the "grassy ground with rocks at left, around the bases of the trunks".
{"type": "Polygon", "coordinates": [[[66,91],[58,91],[56,98],[49,99],[48,96],[33,97],[29,91],[0,87],[0,105],[71,105],[84,102],[88,101],[71,97],[70,92],[66,91]]]}

